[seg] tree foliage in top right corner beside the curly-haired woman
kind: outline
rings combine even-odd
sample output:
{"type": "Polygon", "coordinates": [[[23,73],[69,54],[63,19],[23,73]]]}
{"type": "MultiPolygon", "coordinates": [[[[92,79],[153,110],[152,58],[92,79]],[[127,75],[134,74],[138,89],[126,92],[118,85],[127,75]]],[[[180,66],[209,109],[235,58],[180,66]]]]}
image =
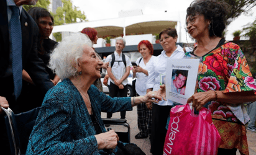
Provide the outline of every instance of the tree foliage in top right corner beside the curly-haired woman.
{"type": "Polygon", "coordinates": [[[230,6],[229,14],[227,15],[227,25],[229,25],[232,20],[239,17],[240,14],[248,14],[252,7],[256,6],[255,0],[217,0],[224,1],[230,6]]]}

